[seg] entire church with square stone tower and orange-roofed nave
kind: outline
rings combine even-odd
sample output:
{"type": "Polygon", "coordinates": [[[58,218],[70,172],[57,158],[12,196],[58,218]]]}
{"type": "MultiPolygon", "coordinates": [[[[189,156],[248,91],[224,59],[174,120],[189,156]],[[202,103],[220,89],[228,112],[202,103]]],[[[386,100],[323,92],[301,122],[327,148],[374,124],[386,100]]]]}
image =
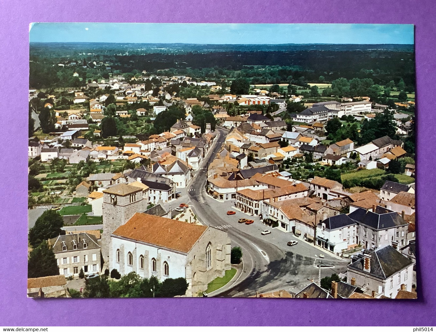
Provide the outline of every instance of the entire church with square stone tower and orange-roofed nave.
{"type": "Polygon", "coordinates": [[[182,277],[186,296],[195,296],[231,268],[226,231],[146,214],[146,204],[141,188],[118,184],[103,191],[102,255],[110,271],[160,282],[182,277]]]}

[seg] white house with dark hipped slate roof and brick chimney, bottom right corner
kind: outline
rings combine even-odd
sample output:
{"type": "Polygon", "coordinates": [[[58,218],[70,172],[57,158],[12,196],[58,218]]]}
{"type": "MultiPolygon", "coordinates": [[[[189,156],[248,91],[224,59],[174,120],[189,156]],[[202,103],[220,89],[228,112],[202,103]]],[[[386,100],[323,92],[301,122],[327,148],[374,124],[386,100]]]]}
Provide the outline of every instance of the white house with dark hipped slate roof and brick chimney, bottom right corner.
{"type": "Polygon", "coordinates": [[[365,293],[395,298],[400,289],[412,291],[413,262],[388,245],[364,250],[347,266],[347,280],[365,293]]]}

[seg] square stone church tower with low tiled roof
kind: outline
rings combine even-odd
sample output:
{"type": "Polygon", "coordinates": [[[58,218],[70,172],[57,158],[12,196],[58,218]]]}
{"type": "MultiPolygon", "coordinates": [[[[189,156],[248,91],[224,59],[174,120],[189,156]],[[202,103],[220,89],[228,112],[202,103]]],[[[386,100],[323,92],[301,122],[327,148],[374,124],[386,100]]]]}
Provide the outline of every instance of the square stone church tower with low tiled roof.
{"type": "Polygon", "coordinates": [[[143,188],[128,184],[118,184],[103,191],[103,234],[102,256],[104,268],[109,267],[112,255],[110,235],[124,225],[136,212],[146,210],[147,202],[143,200],[143,188]]]}

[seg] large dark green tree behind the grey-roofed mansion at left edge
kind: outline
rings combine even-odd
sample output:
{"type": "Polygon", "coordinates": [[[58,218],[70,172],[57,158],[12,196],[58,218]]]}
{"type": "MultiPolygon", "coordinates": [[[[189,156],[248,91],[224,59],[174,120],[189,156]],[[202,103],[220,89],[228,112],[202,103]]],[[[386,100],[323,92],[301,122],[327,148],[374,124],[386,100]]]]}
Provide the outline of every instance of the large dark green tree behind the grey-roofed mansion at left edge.
{"type": "Polygon", "coordinates": [[[63,226],[64,221],[58,211],[51,209],[44,211],[29,231],[30,244],[35,248],[41,242],[60,235],[63,226]]]}

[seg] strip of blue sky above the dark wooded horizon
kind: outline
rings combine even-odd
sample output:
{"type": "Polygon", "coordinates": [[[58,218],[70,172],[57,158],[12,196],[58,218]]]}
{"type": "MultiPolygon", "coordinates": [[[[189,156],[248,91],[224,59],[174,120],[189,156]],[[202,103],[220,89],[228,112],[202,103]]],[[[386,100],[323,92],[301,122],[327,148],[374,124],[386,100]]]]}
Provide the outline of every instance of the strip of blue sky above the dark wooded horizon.
{"type": "Polygon", "coordinates": [[[32,23],[31,42],[413,44],[412,24],[32,23]]]}

